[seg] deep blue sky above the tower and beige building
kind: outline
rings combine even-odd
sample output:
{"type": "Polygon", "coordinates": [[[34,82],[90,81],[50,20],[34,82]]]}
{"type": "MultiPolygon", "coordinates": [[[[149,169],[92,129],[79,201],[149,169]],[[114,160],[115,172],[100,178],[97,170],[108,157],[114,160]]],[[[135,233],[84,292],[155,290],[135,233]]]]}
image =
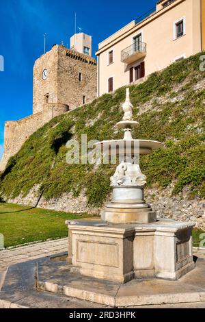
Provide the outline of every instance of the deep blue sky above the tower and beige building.
{"type": "Polygon", "coordinates": [[[77,27],[93,36],[93,49],[118,29],[154,8],[156,0],[0,0],[0,55],[5,68],[0,71],[0,159],[3,153],[5,121],[32,114],[33,63],[53,44],[69,45],[77,27]]]}

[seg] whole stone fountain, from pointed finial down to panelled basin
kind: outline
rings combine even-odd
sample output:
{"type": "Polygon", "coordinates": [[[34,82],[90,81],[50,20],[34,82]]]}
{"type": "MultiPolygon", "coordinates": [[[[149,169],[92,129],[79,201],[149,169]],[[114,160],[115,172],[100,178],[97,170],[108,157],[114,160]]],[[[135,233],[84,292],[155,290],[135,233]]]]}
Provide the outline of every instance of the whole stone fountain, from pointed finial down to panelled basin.
{"type": "Polygon", "coordinates": [[[152,153],[163,143],[132,138],[138,123],[133,121],[129,88],[122,108],[123,121],[117,126],[124,129],[124,138],[96,144],[115,147],[121,161],[111,177],[112,200],[102,210],[101,221],[66,222],[70,271],[120,283],[151,277],[178,280],[195,267],[191,237],[195,223],[157,219],[144,200],[146,176],[137,156],[152,153]]]}

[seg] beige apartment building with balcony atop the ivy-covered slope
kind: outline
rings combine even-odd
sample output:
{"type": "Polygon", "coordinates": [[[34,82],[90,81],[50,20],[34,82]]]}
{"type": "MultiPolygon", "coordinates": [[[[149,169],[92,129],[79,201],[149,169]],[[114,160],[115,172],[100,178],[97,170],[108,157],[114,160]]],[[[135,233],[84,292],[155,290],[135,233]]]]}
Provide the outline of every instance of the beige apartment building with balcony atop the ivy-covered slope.
{"type": "Polygon", "coordinates": [[[98,96],[205,49],[205,0],[161,0],[98,45],[98,96]]]}

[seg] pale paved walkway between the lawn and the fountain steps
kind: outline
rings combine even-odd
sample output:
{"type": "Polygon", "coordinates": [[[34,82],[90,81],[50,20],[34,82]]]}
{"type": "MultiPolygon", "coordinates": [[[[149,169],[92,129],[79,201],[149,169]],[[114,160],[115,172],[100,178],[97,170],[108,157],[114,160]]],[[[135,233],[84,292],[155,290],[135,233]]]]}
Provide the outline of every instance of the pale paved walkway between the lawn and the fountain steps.
{"type": "Polygon", "coordinates": [[[5,271],[12,264],[55,255],[64,251],[68,251],[68,238],[6,249],[0,251],[0,272],[5,271]]]}

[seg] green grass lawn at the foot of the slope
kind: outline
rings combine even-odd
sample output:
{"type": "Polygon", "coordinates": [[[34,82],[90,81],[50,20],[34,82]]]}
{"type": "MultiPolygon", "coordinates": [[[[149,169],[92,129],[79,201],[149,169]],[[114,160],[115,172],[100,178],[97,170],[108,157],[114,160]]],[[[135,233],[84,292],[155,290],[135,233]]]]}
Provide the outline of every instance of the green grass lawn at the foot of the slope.
{"type": "Polygon", "coordinates": [[[10,247],[49,238],[68,236],[67,219],[92,218],[91,214],[70,214],[53,210],[0,203],[0,234],[4,247],[10,247]]]}

